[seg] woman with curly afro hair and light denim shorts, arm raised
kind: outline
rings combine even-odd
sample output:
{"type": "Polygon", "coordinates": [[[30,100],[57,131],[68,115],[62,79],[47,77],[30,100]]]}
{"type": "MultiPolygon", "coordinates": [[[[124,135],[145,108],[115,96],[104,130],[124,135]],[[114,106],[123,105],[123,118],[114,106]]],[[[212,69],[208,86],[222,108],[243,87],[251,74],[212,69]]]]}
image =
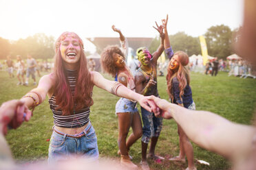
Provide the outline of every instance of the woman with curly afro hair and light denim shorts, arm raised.
{"type": "MultiPolygon", "coordinates": [[[[128,66],[125,63],[125,54],[128,49],[128,42],[125,36],[122,35],[120,29],[116,29],[113,25],[114,32],[118,32],[120,35],[120,44],[122,49],[116,46],[106,47],[101,53],[101,65],[104,71],[116,76],[116,81],[127,86],[127,88],[135,91],[134,77],[131,75],[128,66]]],[[[140,114],[136,108],[136,101],[130,99],[120,98],[116,103],[116,115],[118,116],[118,147],[120,154],[120,164],[130,169],[137,168],[133,162],[131,162],[128,151],[131,145],[133,145],[138,138],[142,136],[142,125],[140,120],[140,114]],[[126,141],[129,128],[132,127],[133,132],[126,141]]]]}

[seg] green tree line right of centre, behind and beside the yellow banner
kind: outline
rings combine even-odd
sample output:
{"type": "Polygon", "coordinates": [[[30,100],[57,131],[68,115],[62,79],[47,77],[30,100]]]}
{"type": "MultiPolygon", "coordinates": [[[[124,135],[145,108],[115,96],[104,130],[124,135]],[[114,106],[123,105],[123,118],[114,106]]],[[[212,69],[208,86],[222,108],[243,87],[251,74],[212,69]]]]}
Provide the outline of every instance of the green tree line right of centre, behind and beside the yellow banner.
{"type": "MultiPolygon", "coordinates": [[[[237,28],[232,31],[231,28],[226,25],[216,25],[207,29],[204,38],[206,39],[208,55],[226,60],[227,56],[235,53],[232,44],[235,41],[239,29],[237,28]]],[[[185,51],[189,56],[193,54],[202,55],[198,37],[192,37],[184,32],[178,32],[174,35],[170,35],[169,38],[174,52],[185,51]]],[[[159,45],[160,38],[154,38],[149,47],[149,51],[156,51],[159,45]]]]}

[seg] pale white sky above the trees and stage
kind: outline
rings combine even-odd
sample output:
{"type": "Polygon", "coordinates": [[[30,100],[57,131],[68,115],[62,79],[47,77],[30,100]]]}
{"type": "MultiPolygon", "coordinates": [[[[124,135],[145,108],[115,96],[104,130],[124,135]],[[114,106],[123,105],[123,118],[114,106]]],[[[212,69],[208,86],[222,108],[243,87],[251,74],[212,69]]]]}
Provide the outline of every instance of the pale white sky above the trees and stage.
{"type": "Polygon", "coordinates": [[[155,21],[169,15],[168,32],[200,36],[215,25],[235,29],[242,25],[242,0],[0,0],[0,37],[27,38],[36,33],[58,38],[62,32],[76,32],[87,47],[86,38],[118,37],[116,25],[127,37],[158,36],[155,21]]]}

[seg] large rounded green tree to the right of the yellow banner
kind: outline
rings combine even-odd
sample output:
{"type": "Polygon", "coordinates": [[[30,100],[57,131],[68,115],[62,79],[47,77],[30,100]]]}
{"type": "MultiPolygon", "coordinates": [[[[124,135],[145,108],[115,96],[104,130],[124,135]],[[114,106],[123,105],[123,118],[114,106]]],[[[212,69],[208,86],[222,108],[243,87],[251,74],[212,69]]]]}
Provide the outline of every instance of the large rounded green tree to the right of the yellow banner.
{"type": "Polygon", "coordinates": [[[226,59],[232,54],[232,31],[226,25],[217,25],[207,29],[204,34],[209,56],[226,59]]]}

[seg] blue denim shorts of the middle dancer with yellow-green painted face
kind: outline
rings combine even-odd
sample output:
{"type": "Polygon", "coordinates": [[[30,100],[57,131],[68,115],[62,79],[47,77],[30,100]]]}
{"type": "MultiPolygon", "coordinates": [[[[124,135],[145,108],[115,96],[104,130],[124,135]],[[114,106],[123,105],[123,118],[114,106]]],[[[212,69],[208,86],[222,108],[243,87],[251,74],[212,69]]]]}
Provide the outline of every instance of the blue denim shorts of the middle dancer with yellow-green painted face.
{"type": "Polygon", "coordinates": [[[147,111],[141,107],[143,121],[142,138],[143,143],[149,143],[151,137],[158,137],[162,130],[162,117],[155,117],[153,112],[147,111]]]}

